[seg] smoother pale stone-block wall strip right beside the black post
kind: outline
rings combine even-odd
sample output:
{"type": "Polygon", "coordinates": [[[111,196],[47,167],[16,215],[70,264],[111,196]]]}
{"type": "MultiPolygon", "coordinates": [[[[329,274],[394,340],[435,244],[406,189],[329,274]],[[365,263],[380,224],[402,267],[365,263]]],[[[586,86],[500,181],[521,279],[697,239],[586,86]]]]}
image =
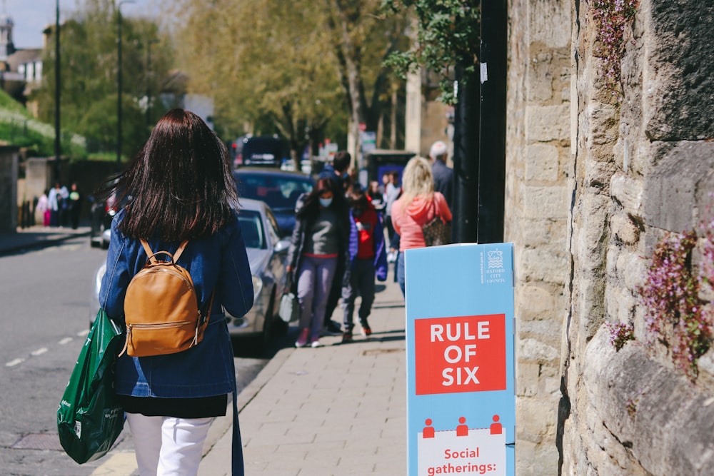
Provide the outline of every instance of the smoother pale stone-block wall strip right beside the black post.
{"type": "Polygon", "coordinates": [[[516,243],[516,467],[555,475],[568,265],[570,10],[509,5],[506,241],[516,243]]]}

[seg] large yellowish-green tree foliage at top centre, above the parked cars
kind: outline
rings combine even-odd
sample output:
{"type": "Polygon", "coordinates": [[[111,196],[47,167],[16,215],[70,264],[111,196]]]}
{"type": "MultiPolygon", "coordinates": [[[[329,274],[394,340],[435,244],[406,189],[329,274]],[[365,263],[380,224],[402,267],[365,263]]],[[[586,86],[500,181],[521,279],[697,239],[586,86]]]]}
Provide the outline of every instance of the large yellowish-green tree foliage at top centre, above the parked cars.
{"type": "Polygon", "coordinates": [[[374,130],[391,105],[383,60],[406,37],[396,17],[375,16],[376,0],[175,4],[191,89],[216,97],[216,115],[236,136],[246,122],[263,124],[299,153],[336,124],[374,130]]]}

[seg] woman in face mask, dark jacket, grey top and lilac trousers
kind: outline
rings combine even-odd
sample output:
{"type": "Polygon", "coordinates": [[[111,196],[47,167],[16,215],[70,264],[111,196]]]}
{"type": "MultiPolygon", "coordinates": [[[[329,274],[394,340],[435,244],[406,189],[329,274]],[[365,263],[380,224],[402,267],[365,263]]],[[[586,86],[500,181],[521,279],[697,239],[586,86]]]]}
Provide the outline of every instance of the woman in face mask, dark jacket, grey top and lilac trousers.
{"type": "Polygon", "coordinates": [[[350,223],[344,194],[328,178],[298,198],[295,228],[288,249],[288,273],[296,273],[300,304],[298,348],[319,347],[327,298],[338,268],[346,269],[350,223]]]}

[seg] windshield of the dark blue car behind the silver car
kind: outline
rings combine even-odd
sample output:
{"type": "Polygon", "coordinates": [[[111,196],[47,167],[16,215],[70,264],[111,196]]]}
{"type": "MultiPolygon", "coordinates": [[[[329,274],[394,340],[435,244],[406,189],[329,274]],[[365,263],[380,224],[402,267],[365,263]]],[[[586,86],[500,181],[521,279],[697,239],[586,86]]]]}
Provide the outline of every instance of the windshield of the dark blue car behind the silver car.
{"type": "Polygon", "coordinates": [[[313,184],[309,178],[278,177],[267,174],[239,173],[238,196],[261,200],[273,208],[293,209],[298,197],[309,192],[313,184]]]}

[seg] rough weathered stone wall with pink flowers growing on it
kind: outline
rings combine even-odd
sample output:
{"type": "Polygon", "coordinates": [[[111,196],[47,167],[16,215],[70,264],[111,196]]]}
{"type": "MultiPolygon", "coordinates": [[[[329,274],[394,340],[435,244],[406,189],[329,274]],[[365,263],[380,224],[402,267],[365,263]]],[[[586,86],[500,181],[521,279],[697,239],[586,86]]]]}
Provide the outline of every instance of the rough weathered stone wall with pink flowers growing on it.
{"type": "Polygon", "coordinates": [[[603,88],[592,12],[580,6],[563,473],[710,474],[711,356],[694,382],[675,370],[650,342],[638,287],[657,241],[696,228],[711,203],[714,6],[640,2],[625,29],[619,102],[603,88]],[[633,324],[635,340],[615,352],[604,321],[633,324]]]}

